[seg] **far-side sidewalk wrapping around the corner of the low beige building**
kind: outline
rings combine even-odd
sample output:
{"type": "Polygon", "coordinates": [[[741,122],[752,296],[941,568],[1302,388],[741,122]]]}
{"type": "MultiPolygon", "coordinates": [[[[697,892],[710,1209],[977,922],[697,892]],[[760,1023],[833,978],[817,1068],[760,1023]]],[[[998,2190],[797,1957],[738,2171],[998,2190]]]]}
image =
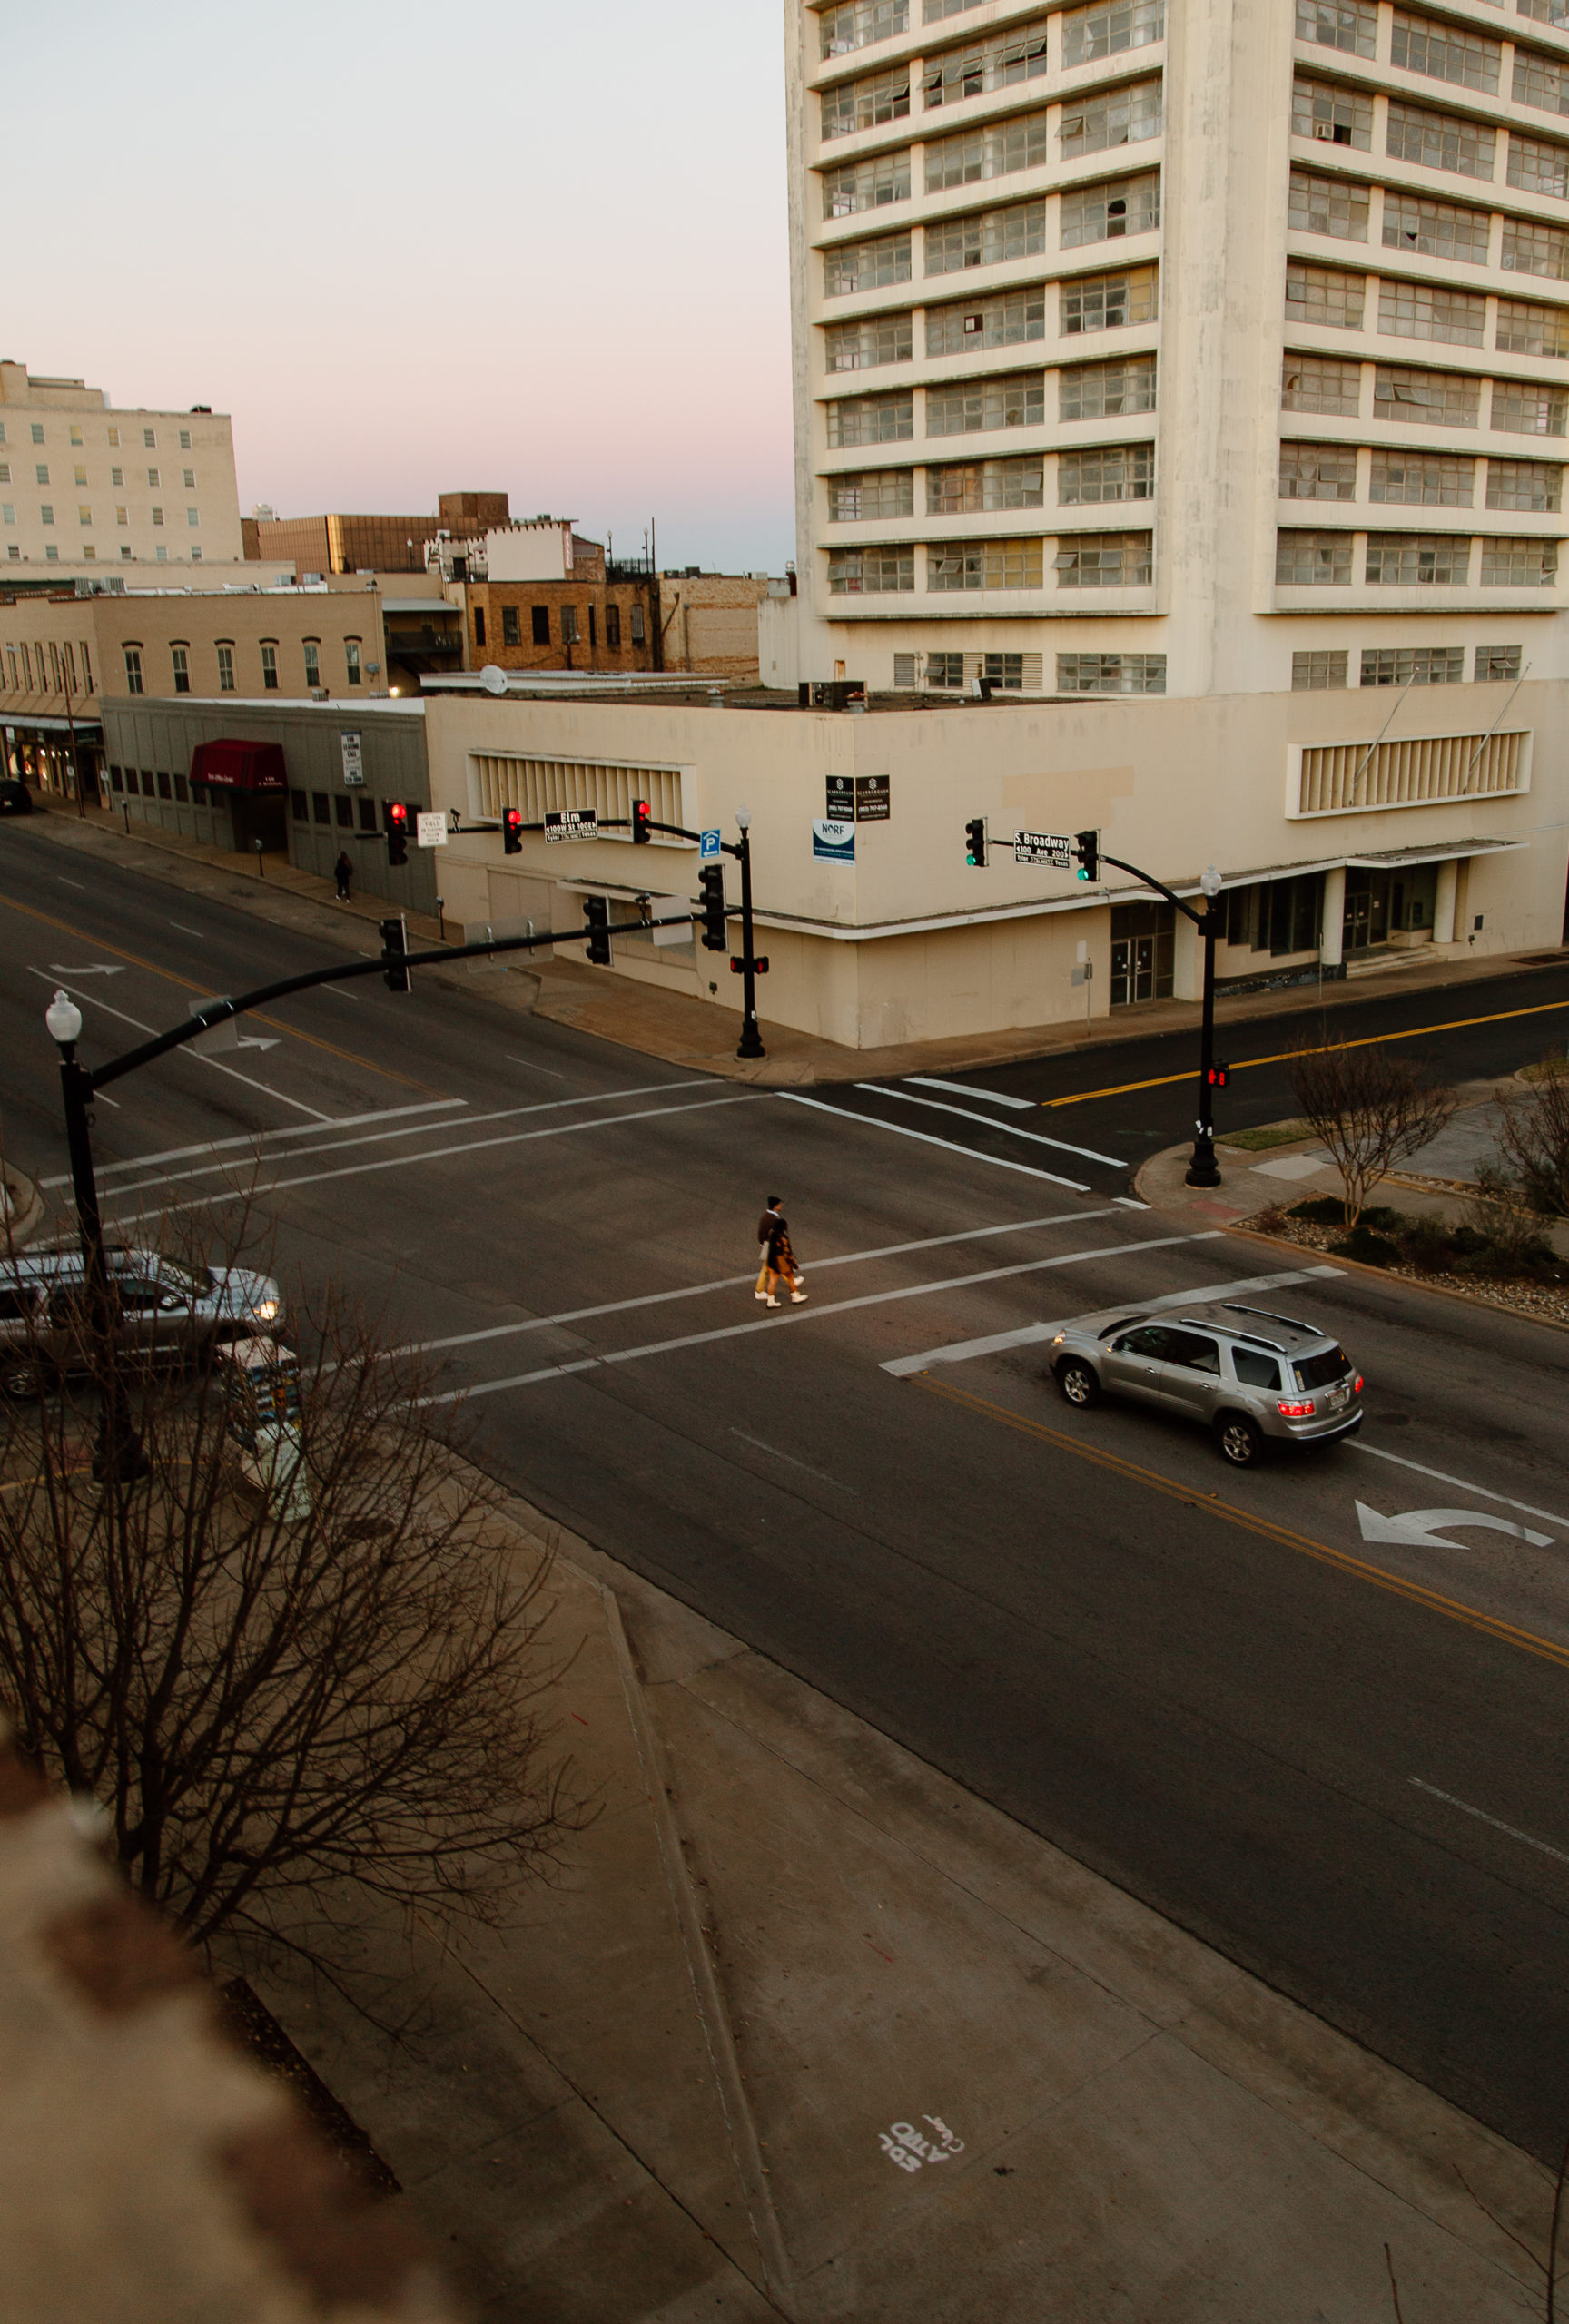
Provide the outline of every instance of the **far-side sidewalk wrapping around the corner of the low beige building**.
{"type": "MultiPolygon", "coordinates": [[[[130,818],[130,834],[123,816],[93,811],[74,816],[49,811],[35,818],[33,830],[44,830],[63,846],[86,848],[93,855],[123,862],[153,878],[167,881],[193,895],[207,895],[242,911],[253,911],[279,927],[295,927],[302,934],[325,934],[344,939],[344,923],[365,923],[360,951],[377,951],[374,925],[391,906],[384,897],[358,895],[349,904],[332,899],[332,883],[311,871],[267,858],[263,878],[249,855],[228,855],[218,848],[181,839],[177,832],[130,818]]],[[[409,913],[409,937],[421,944],[437,944],[442,934],[432,918],[409,913]]],[[[576,939],[563,939],[576,944],[576,939]]],[[[1543,955],[1520,955],[1523,962],[1543,955]]],[[[1569,951],[1564,951],[1569,962],[1569,951]]],[[[1348,1002],[1374,999],[1383,992],[1448,990],[1499,976],[1511,967],[1511,955],[1478,960],[1474,953],[1455,948],[1432,960],[1402,953],[1392,964],[1357,969],[1344,983],[1323,988],[1297,985],[1283,992],[1244,992],[1216,1002],[1216,1023],[1237,1025],[1248,1018],[1269,1018],[1292,1009],[1323,1006],[1339,1009],[1348,1002]]],[[[439,976],[442,971],[423,971],[439,976]]],[[[453,981],[463,988],[483,990],[486,999],[521,1009],[530,1016],[549,1018],[556,1025],[574,1025],[581,1032],[621,1048],[660,1057],[667,1064],[690,1071],[718,1074],[732,1081],[755,1081],[765,1088],[800,1088],[818,1081],[879,1081],[916,1071],[967,1071],[988,1064],[1013,1064],[1025,1057],[1055,1055],[1062,1050],[1113,1048],[1120,1041],[1141,1041],[1148,1034],[1197,1027],[1197,1002],[1151,1002],[1120,1011],[1116,1020],[1097,1018],[1090,1037],[1081,1023],[1074,1025],[1020,1025],[993,1034],[958,1034],[944,1041],[904,1041],[893,1048],[844,1048],[816,1034],[760,1020],[767,1057],[746,1062],[735,1055],[739,1039],[739,1016],[714,1002],[693,999],[681,992],[665,992],[658,985],[635,983],[625,976],[607,976],[586,962],[567,957],[539,957],[535,967],[516,967],[507,974],[481,974],[465,962],[453,962],[453,981]]],[[[767,1002],[767,983],[762,985],[767,1002]]]]}

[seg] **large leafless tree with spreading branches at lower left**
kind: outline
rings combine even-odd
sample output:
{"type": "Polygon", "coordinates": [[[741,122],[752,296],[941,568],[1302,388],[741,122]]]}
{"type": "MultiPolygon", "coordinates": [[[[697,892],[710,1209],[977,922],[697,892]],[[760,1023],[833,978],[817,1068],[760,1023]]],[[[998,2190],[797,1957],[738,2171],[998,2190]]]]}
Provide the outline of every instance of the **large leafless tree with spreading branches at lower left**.
{"type": "Polygon", "coordinates": [[[7,1408],[0,1697],[195,1945],[337,1982],[367,1908],[493,1924],[586,1808],[539,1713],[549,1552],[518,1552],[418,1364],[339,1290],[302,1292],[291,1339],[298,1520],[237,1473],[221,1367],[121,1348],[139,1480],[91,1473],[102,1353],[7,1408]]]}

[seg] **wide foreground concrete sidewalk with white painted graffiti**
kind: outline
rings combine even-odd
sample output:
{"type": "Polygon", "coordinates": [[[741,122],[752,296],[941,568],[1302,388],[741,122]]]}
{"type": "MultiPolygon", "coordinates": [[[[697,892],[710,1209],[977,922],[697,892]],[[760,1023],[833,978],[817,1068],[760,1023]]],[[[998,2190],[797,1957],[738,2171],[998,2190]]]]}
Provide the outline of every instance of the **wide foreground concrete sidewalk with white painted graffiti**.
{"type": "Polygon", "coordinates": [[[416,2047],[270,1994],[477,2317],[1371,2324],[1385,2245],[1406,2324],[1539,2312],[1534,2161],[586,1543],[551,1590],[569,1873],[423,1950],[416,2047]]]}

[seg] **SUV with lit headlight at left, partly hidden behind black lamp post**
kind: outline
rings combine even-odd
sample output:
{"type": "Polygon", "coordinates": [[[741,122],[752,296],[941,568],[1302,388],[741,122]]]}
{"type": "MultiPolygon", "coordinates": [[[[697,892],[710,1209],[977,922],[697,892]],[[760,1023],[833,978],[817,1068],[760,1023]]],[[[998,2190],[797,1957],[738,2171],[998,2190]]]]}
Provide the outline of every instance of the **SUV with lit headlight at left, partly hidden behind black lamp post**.
{"type": "MultiPolygon", "coordinates": [[[[270,1276],[244,1267],[184,1267],[153,1250],[112,1250],[114,1327],[139,1355],[209,1362],[232,1339],[279,1329],[284,1299],[270,1276]]],[[[0,1390],[37,1397],[81,1362],[86,1264],[79,1253],[37,1250],[0,1262],[0,1390]]]]}

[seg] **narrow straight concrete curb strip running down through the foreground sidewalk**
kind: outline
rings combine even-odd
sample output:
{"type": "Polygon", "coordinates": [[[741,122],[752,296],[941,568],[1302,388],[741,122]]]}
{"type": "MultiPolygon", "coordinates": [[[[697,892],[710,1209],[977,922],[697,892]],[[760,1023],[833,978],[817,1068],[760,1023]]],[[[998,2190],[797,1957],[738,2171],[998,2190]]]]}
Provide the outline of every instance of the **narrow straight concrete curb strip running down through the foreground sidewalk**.
{"type": "Polygon", "coordinates": [[[665,1880],[669,1882],[669,1901],[674,1903],[676,1920],[681,1924],[681,1943],[686,1948],[686,1968],[693,1980],[697,2020],[709,2047],[709,2064],[714,2066],[714,2082],[718,2085],[718,2103],[730,2131],[730,2154],[735,2159],[737,2178],[741,2180],[746,2217],[751,2222],[758,2259],[762,2264],[762,2284],[758,2289],[765,2291],[769,2305],[774,2305],[779,2315],[790,2317],[790,2261],[786,2257],[774,2196],[767,2185],[767,2164],[762,2161],[758,2124],[746,2096],[746,2082],[741,2080],[741,2064],[735,2052],[730,2013],[725,2010],[725,1999],[714,1973],[714,1952],[702,1922],[702,1906],[686,1868],[681,1829],[672,1808],[672,1785],[665,1766],[665,1752],[649,1715],[644,1685],[637,1676],[616,1592],[604,1583],[595,1583],[595,1587],[604,1601],[604,1615],[616,1648],[616,1666],[621,1671],[621,1690],[628,1701],[632,1734],[637,1736],[637,1755],[644,1764],[644,1776],[649,1778],[649,1806],[653,1808],[660,1859],[665,1864],[665,1880]]]}

